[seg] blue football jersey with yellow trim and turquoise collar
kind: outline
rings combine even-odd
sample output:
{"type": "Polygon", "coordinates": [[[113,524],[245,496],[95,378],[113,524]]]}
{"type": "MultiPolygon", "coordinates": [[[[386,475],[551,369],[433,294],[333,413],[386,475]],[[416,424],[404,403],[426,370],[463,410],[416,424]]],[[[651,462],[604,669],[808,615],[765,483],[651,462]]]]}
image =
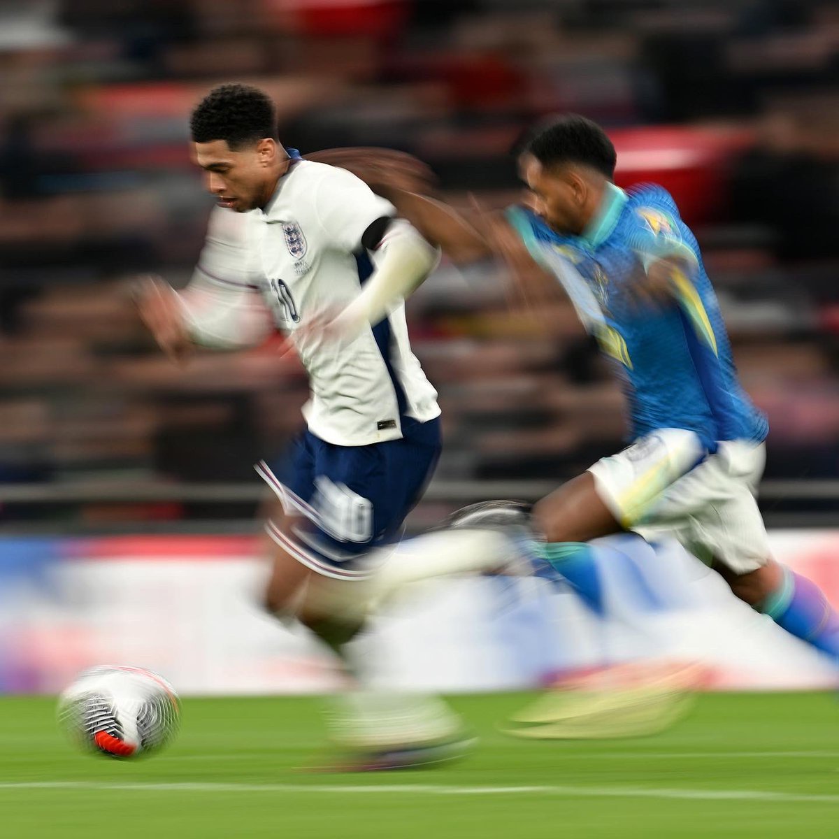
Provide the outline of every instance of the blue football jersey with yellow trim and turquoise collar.
{"type": "Polygon", "coordinates": [[[737,380],[717,296],[696,237],[657,185],[608,185],[581,236],[557,233],[511,207],[508,219],[529,253],[555,274],[586,329],[623,373],[633,438],[661,428],[695,431],[709,451],[721,440],[767,435],[766,418],[737,380]],[[638,304],[632,284],[655,258],[679,257],[674,305],[638,304]]]}

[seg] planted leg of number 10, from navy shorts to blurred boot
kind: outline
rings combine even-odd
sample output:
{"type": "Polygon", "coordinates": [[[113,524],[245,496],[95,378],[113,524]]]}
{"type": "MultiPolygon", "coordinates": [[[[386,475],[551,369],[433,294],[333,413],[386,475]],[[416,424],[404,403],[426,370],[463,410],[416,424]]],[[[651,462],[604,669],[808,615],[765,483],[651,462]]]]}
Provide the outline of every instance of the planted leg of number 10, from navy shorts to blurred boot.
{"type": "Polygon", "coordinates": [[[297,618],[340,657],[357,685],[337,697],[328,714],[333,740],[347,753],[339,769],[435,763],[461,752],[461,723],[446,706],[378,689],[375,670],[356,661],[349,644],[370,612],[369,580],[393,550],[382,543],[398,537],[439,456],[438,423],[416,436],[352,447],[310,440],[311,492],[292,495],[284,486],[286,502],[307,517],[278,538],[314,571],[297,618]]]}

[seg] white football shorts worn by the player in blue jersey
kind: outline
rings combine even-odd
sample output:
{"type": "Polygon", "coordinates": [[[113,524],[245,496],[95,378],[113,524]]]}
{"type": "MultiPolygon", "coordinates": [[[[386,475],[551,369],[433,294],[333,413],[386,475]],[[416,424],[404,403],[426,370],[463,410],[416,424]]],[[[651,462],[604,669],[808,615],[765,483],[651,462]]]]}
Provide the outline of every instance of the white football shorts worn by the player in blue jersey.
{"type": "Polygon", "coordinates": [[[659,429],[588,471],[626,529],[644,539],[678,539],[708,565],[717,560],[738,574],[755,571],[770,556],[755,498],[765,446],[727,440],[701,460],[703,451],[692,431],[659,429]]]}

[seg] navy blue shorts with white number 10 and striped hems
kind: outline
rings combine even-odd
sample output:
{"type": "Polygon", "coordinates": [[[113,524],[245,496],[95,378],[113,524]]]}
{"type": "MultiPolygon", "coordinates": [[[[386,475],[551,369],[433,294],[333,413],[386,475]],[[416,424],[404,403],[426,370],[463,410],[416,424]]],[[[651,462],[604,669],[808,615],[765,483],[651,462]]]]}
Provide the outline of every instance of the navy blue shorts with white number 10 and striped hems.
{"type": "Polygon", "coordinates": [[[256,470],[285,512],[300,516],[290,533],[268,521],[268,535],[320,574],[367,576],[356,560],[399,539],[440,457],[439,419],[408,420],[403,432],[401,440],[336,446],[306,430],[286,456],[260,461],[256,470]]]}

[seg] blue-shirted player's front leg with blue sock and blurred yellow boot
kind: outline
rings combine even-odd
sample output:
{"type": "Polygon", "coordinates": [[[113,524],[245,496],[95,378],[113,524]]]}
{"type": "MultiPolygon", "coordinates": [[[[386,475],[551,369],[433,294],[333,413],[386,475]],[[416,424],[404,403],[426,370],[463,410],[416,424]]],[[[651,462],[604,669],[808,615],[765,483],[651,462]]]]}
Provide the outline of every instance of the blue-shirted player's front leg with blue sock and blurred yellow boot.
{"type": "MultiPolygon", "coordinates": [[[[608,566],[636,594],[637,611],[621,610],[620,619],[654,641],[645,631],[649,622],[644,612],[669,608],[644,577],[646,552],[654,548],[635,536],[615,536],[619,542],[611,544],[608,538],[599,544],[591,544],[591,539],[632,529],[703,455],[696,435],[662,430],[598,461],[585,475],[536,505],[534,523],[546,540],[535,546],[534,572],[571,587],[598,617],[607,612],[614,617],[616,603],[612,599],[607,604],[605,597],[603,569],[608,566]]],[[[657,644],[652,646],[658,649],[657,644]]],[[[653,655],[660,658],[660,649],[653,655]]],[[[628,737],[667,727],[685,710],[701,670],[664,659],[633,666],[644,674],[634,684],[624,683],[618,673],[594,690],[545,694],[514,719],[522,726],[515,732],[529,737],[628,737]],[[642,706],[649,711],[646,716],[638,715],[642,706]]]]}

